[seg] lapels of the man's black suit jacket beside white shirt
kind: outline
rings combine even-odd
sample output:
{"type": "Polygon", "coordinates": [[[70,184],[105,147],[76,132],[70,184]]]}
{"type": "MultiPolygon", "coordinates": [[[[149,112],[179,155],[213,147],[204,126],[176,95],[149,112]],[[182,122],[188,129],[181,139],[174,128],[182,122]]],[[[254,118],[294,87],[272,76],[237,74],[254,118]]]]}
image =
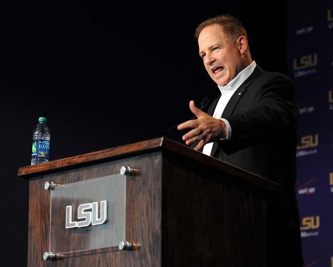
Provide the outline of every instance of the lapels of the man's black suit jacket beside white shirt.
{"type": "MultiPolygon", "coordinates": [[[[230,98],[228,104],[226,105],[225,109],[223,110],[222,116],[227,117],[231,116],[234,113],[234,110],[240,101],[240,99],[243,97],[243,95],[246,93],[247,88],[254,82],[256,78],[258,78],[262,74],[263,70],[257,65],[253,71],[253,73],[250,75],[250,77],[245,80],[245,82],[234,92],[232,97],[230,98]]],[[[217,103],[216,103],[217,105],[217,103]]],[[[216,107],[215,105],[215,107],[216,107]]],[[[213,110],[215,110],[215,107],[213,110]]],[[[214,111],[213,111],[214,112],[214,111]]],[[[215,141],[212,147],[212,151],[210,153],[211,157],[214,157],[217,148],[219,147],[219,141],[215,141]]]]}

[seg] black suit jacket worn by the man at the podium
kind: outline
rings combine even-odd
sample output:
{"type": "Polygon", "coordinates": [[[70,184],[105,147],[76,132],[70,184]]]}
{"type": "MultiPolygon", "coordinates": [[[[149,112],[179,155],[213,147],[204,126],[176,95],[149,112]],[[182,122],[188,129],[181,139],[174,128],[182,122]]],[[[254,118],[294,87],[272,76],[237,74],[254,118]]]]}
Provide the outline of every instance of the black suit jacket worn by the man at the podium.
{"type": "MultiPolygon", "coordinates": [[[[220,96],[212,102],[208,114],[214,113],[220,96]]],[[[274,222],[271,227],[275,228],[270,233],[270,253],[279,258],[269,266],[302,266],[295,191],[299,108],[292,81],[256,66],[229,100],[222,118],[229,121],[232,136],[228,141],[214,142],[211,156],[282,187],[270,215],[274,222]]]]}

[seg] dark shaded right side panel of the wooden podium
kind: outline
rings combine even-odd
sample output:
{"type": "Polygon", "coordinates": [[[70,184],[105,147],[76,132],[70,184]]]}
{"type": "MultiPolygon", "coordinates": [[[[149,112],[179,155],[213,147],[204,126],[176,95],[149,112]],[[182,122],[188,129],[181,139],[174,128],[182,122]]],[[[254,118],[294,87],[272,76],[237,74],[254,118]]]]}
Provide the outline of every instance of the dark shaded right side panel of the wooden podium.
{"type": "Polygon", "coordinates": [[[185,157],[163,157],[162,266],[267,266],[269,193],[185,157]]]}

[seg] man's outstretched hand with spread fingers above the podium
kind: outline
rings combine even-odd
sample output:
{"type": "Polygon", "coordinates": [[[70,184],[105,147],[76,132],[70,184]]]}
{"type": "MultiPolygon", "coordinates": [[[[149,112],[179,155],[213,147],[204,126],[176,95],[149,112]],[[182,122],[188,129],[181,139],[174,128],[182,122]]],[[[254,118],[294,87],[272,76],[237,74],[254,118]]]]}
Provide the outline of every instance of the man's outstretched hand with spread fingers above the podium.
{"type": "Polygon", "coordinates": [[[200,150],[205,144],[227,136],[227,127],[223,120],[203,112],[195,106],[193,100],[190,101],[190,110],[197,119],[185,121],[177,127],[178,130],[193,128],[182,137],[186,145],[199,141],[194,150],[200,150]]]}

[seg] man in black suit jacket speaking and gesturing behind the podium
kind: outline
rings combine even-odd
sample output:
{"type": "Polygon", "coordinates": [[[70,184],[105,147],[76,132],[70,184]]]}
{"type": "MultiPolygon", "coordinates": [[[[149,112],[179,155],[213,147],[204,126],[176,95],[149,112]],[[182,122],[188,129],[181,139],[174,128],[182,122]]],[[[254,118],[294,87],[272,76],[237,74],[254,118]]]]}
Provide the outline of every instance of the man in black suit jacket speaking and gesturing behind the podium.
{"type": "Polygon", "coordinates": [[[303,266],[295,192],[299,109],[293,84],[252,61],[247,32],[233,16],[202,22],[195,37],[220,95],[207,113],[190,101],[197,119],[178,125],[178,130],[190,129],[182,139],[195,150],[281,185],[281,197],[269,210],[274,231],[269,233],[268,266],[303,266]]]}

